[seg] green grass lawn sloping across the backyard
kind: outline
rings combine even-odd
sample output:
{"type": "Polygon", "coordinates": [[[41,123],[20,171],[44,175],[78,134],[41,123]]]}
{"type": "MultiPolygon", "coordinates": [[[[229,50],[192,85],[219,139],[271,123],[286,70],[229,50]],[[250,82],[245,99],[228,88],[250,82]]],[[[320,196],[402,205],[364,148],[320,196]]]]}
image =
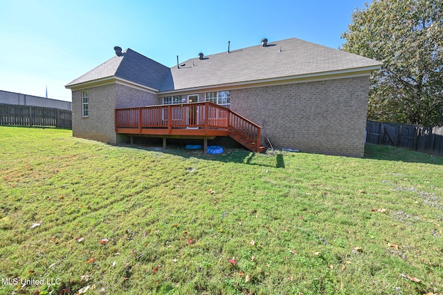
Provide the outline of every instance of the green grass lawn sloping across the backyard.
{"type": "Polygon", "coordinates": [[[0,294],[442,294],[443,158],[365,154],[0,126],[0,294]]]}

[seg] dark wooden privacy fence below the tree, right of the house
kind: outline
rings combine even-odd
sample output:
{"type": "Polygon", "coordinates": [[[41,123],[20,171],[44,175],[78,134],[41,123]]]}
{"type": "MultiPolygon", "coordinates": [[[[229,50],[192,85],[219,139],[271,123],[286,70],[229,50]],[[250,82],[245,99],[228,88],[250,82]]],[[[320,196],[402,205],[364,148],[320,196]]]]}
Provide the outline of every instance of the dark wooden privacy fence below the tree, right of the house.
{"type": "Polygon", "coordinates": [[[443,126],[366,122],[366,142],[443,155],[443,126]]]}

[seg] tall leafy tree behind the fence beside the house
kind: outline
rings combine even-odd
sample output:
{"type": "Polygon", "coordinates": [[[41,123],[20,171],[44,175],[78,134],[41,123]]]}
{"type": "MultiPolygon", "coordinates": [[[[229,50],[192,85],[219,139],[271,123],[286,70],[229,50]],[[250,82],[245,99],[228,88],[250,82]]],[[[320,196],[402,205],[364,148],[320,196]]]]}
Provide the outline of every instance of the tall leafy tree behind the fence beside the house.
{"type": "Polygon", "coordinates": [[[368,118],[443,126],[443,0],[374,0],[352,13],[342,49],[383,62],[368,118]]]}

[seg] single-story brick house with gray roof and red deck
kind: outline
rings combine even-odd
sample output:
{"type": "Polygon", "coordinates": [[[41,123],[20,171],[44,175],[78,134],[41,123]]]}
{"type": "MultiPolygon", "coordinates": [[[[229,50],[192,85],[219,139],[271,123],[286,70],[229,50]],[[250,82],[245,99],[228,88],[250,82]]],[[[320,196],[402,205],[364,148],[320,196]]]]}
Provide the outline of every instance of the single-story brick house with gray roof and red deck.
{"type": "MultiPolygon", "coordinates": [[[[296,38],[197,57],[171,68],[122,51],[66,85],[73,136],[230,136],[274,148],[362,157],[370,73],[381,64],[296,38]]],[[[177,57],[178,61],[178,57],[177,57]]],[[[248,146],[249,144],[249,146],[248,146]]]]}

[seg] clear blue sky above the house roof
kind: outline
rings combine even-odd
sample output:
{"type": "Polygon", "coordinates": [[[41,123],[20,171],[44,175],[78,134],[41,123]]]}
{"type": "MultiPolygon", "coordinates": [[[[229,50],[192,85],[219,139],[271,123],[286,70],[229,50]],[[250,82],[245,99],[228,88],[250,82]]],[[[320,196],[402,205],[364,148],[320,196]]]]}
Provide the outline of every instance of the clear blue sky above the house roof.
{"type": "Polygon", "coordinates": [[[64,86],[114,46],[165,66],[296,37],[339,48],[361,0],[0,0],[0,90],[71,101],[64,86]]]}

